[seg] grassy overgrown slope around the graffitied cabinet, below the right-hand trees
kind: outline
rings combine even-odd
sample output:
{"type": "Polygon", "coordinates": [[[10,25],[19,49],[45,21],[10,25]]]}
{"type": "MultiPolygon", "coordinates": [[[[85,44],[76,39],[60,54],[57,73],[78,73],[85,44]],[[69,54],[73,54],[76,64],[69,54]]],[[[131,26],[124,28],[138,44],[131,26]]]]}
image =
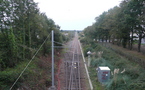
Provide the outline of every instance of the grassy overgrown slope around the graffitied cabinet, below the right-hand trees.
{"type": "MultiPolygon", "coordinates": [[[[119,47],[114,48],[115,50],[120,50],[125,53],[129,52],[119,47]]],[[[145,70],[138,63],[128,60],[128,58],[116,53],[116,51],[99,44],[97,44],[93,50],[96,53],[97,51],[104,52],[102,58],[99,59],[97,55],[92,58],[91,67],[89,68],[94,90],[145,90],[145,70]],[[115,69],[119,69],[119,72],[116,75],[111,75],[110,80],[102,86],[97,81],[96,68],[98,66],[108,66],[112,73],[115,69]],[[121,73],[124,69],[125,72],[121,73]]],[[[137,56],[138,53],[132,54],[130,52],[129,55],[137,56]]],[[[144,58],[144,56],[140,58],[144,58]]]]}

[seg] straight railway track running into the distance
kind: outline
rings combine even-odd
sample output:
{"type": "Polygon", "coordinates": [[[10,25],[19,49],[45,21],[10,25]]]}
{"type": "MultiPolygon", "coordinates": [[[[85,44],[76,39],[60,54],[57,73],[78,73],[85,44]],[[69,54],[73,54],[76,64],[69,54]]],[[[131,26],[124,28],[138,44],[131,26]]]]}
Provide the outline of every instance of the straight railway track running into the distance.
{"type": "Polygon", "coordinates": [[[78,36],[70,42],[69,49],[64,54],[65,90],[83,90],[81,83],[80,48],[78,36]]]}

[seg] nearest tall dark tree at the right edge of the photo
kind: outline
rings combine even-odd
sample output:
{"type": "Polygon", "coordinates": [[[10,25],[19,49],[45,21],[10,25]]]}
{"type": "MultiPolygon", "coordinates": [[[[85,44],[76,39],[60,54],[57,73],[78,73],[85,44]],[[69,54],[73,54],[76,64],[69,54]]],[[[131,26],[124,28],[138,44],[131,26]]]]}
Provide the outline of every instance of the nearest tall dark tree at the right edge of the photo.
{"type": "MultiPolygon", "coordinates": [[[[138,52],[140,52],[141,48],[141,39],[145,36],[145,29],[144,29],[144,0],[131,0],[128,4],[128,11],[131,31],[132,31],[132,38],[133,41],[133,33],[136,33],[139,37],[138,41],[138,52]]],[[[132,45],[132,43],[131,43],[132,45]]]]}

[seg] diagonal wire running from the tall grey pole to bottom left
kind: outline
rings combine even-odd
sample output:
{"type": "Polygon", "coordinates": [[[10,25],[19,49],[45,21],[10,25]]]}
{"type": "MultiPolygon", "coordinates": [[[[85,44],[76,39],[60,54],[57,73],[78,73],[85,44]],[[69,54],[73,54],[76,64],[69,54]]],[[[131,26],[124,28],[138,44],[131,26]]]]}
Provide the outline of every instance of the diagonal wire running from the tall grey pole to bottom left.
{"type": "MultiPolygon", "coordinates": [[[[51,34],[51,33],[50,33],[51,34]]],[[[32,62],[32,60],[35,58],[35,56],[38,54],[38,52],[40,51],[40,49],[42,48],[42,46],[44,45],[44,43],[47,41],[47,39],[49,38],[50,34],[47,36],[47,38],[43,41],[43,43],[41,44],[41,46],[39,47],[39,49],[36,51],[36,53],[33,55],[33,57],[31,58],[31,60],[28,62],[28,64],[26,65],[26,67],[23,69],[23,71],[20,73],[20,75],[18,76],[18,78],[15,80],[15,82],[13,83],[13,85],[11,86],[11,88],[9,90],[12,90],[12,88],[14,87],[14,85],[17,83],[17,81],[20,79],[20,77],[22,76],[22,74],[25,72],[25,70],[28,68],[28,66],[30,65],[30,63],[32,62]]]]}

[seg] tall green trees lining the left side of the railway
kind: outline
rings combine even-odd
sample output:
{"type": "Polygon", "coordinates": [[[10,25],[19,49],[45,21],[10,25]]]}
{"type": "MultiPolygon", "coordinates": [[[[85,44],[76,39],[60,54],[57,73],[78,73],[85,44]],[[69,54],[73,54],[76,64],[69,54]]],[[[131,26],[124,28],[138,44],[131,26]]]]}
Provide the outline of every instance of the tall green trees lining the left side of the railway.
{"type": "MultiPolygon", "coordinates": [[[[62,42],[59,29],[33,0],[0,0],[0,71],[30,59],[51,30],[55,41],[62,42]]],[[[51,50],[50,40],[41,49],[43,55],[51,50]]]]}

